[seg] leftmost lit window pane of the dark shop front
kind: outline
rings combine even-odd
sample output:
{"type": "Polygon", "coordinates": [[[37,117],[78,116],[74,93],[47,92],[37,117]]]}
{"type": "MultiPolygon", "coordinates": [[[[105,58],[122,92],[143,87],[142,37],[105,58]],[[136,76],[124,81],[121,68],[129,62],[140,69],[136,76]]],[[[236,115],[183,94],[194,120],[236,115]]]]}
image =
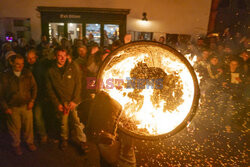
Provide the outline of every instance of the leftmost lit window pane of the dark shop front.
{"type": "Polygon", "coordinates": [[[49,23],[49,39],[56,38],[60,41],[64,37],[64,23],[49,23]]]}

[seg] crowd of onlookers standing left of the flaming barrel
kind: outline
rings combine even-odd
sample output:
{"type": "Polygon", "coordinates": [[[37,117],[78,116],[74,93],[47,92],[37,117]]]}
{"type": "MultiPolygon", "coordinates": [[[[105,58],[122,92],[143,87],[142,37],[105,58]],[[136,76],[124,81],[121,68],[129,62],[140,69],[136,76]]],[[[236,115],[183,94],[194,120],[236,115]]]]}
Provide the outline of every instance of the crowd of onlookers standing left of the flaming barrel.
{"type": "MultiPolygon", "coordinates": [[[[124,41],[129,39],[128,34],[124,41]]],[[[16,155],[23,154],[21,136],[29,151],[37,149],[35,137],[41,144],[60,140],[63,151],[70,138],[81,153],[89,151],[84,128],[95,90],[86,88],[86,77],[96,77],[104,59],[121,45],[116,40],[104,50],[92,40],[75,40],[71,46],[66,38],[50,43],[46,36],[38,45],[23,38],[2,44],[1,120],[16,155]]]]}

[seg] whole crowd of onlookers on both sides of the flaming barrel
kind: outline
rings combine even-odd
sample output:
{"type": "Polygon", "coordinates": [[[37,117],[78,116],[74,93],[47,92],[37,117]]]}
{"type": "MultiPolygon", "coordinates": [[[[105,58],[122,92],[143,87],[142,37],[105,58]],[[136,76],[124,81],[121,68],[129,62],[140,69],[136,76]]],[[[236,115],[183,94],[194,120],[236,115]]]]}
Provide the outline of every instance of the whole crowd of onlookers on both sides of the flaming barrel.
{"type": "MultiPolygon", "coordinates": [[[[83,129],[88,109],[82,103],[90,103],[95,90],[86,89],[86,77],[96,77],[110,52],[130,41],[131,35],[128,34],[123,42],[116,40],[107,48],[87,39],[76,39],[73,45],[66,38],[60,42],[53,38],[49,42],[46,36],[42,36],[38,45],[34,40],[25,42],[24,38],[4,42],[0,53],[0,107],[6,116],[14,152],[22,154],[21,129],[27,148],[36,150],[33,122],[39,141],[46,143],[49,131],[57,127],[48,129],[49,119],[52,120],[50,124],[56,122],[54,119],[59,120],[59,129],[55,131],[59,131],[62,150],[66,149],[69,131],[72,131],[72,140],[87,152],[87,137],[83,129]],[[55,117],[51,116],[52,113],[56,113],[55,117]],[[81,113],[85,113],[85,118],[81,118],[81,113]],[[50,116],[46,116],[48,114],[50,116]]],[[[203,99],[210,99],[210,103],[223,101],[218,107],[227,106],[228,100],[249,103],[248,38],[226,29],[220,35],[206,36],[194,42],[178,40],[173,43],[166,41],[165,37],[160,37],[158,42],[183,54],[197,56],[194,69],[202,77],[203,99]]]]}

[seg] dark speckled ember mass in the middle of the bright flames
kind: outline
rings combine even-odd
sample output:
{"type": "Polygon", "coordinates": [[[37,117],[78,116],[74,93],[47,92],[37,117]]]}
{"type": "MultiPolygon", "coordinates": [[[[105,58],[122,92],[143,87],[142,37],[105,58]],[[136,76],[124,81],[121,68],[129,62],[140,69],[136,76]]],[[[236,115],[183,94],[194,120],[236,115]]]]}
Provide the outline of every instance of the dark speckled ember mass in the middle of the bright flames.
{"type": "MultiPolygon", "coordinates": [[[[164,100],[163,111],[173,111],[183,102],[181,99],[183,86],[178,74],[167,75],[161,68],[148,67],[147,64],[140,62],[131,70],[130,77],[144,79],[142,83],[135,81],[135,87],[143,89],[147,86],[147,80],[159,81],[160,79],[162,81],[158,86],[154,85],[154,92],[150,97],[155,108],[159,108],[160,102],[164,100]],[[139,84],[140,86],[138,86],[139,84]]],[[[139,101],[143,101],[144,98],[143,95],[140,95],[143,89],[134,89],[128,96],[140,104],[139,101]]]]}

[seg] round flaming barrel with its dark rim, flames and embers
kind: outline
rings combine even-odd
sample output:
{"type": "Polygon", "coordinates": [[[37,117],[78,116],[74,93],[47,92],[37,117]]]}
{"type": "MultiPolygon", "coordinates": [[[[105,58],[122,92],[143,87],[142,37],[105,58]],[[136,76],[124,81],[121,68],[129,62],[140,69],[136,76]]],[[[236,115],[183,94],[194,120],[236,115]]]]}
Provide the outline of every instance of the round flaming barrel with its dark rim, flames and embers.
{"type": "Polygon", "coordinates": [[[175,49],[156,42],[132,42],[107,57],[99,90],[119,102],[118,127],[141,139],[174,135],[193,118],[199,101],[196,74],[175,49]]]}

